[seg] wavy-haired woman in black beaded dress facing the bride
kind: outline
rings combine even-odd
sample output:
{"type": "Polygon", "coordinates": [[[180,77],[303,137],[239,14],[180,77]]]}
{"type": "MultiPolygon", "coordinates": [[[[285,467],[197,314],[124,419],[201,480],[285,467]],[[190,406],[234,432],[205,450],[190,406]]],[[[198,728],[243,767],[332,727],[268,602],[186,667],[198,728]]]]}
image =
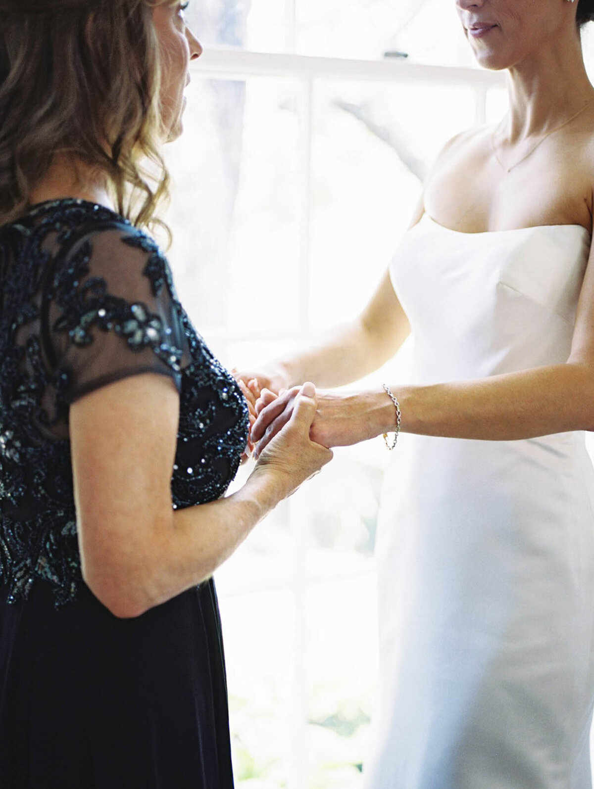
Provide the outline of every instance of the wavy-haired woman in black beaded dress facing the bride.
{"type": "Polygon", "coordinates": [[[331,458],[306,385],[223,498],[248,402],[143,230],[200,53],[179,2],[0,0],[2,789],[232,787],[212,572],[331,458]]]}

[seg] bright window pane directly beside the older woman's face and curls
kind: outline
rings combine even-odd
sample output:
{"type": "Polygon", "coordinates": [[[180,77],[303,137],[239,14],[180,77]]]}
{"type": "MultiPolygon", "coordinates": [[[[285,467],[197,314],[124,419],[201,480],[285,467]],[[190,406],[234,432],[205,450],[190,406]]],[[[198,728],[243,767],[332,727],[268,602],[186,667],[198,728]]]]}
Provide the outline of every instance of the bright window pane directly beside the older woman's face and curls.
{"type": "Polygon", "coordinates": [[[207,339],[287,330],[299,314],[279,297],[299,279],[299,85],[194,74],[188,97],[186,134],[167,151],[184,304],[207,339]]]}

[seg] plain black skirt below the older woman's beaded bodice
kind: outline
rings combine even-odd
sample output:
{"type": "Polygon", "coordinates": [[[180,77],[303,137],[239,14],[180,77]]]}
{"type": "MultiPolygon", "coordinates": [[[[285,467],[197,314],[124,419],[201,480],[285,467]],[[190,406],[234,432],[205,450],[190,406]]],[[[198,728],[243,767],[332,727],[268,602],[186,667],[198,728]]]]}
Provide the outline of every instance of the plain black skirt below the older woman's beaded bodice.
{"type": "Polygon", "coordinates": [[[0,585],[2,789],[232,789],[212,581],[136,619],[0,585]]]}

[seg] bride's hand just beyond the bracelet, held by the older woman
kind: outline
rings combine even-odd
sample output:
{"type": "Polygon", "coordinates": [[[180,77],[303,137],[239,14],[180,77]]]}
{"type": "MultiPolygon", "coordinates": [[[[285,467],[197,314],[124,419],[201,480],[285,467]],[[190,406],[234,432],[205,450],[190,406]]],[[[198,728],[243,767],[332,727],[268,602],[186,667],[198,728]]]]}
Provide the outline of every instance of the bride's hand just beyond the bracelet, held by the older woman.
{"type": "MultiPolygon", "coordinates": [[[[255,457],[282,430],[291,418],[299,387],[276,396],[261,391],[256,402],[258,418],[252,428],[252,441],[257,444],[255,457]]],[[[373,424],[374,409],[367,393],[336,394],[318,391],[318,405],[310,428],[310,439],[323,447],[346,447],[378,435],[373,424]]]]}

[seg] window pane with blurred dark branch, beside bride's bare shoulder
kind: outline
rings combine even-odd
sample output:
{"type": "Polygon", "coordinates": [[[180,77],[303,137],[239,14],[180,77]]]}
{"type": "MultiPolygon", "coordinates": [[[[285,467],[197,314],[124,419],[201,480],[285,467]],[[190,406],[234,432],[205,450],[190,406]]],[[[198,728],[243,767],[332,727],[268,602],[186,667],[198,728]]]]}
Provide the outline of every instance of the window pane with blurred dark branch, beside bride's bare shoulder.
{"type": "Polygon", "coordinates": [[[470,88],[317,83],[314,325],[333,325],[363,308],[411,221],[420,178],[474,118],[470,88]]]}

